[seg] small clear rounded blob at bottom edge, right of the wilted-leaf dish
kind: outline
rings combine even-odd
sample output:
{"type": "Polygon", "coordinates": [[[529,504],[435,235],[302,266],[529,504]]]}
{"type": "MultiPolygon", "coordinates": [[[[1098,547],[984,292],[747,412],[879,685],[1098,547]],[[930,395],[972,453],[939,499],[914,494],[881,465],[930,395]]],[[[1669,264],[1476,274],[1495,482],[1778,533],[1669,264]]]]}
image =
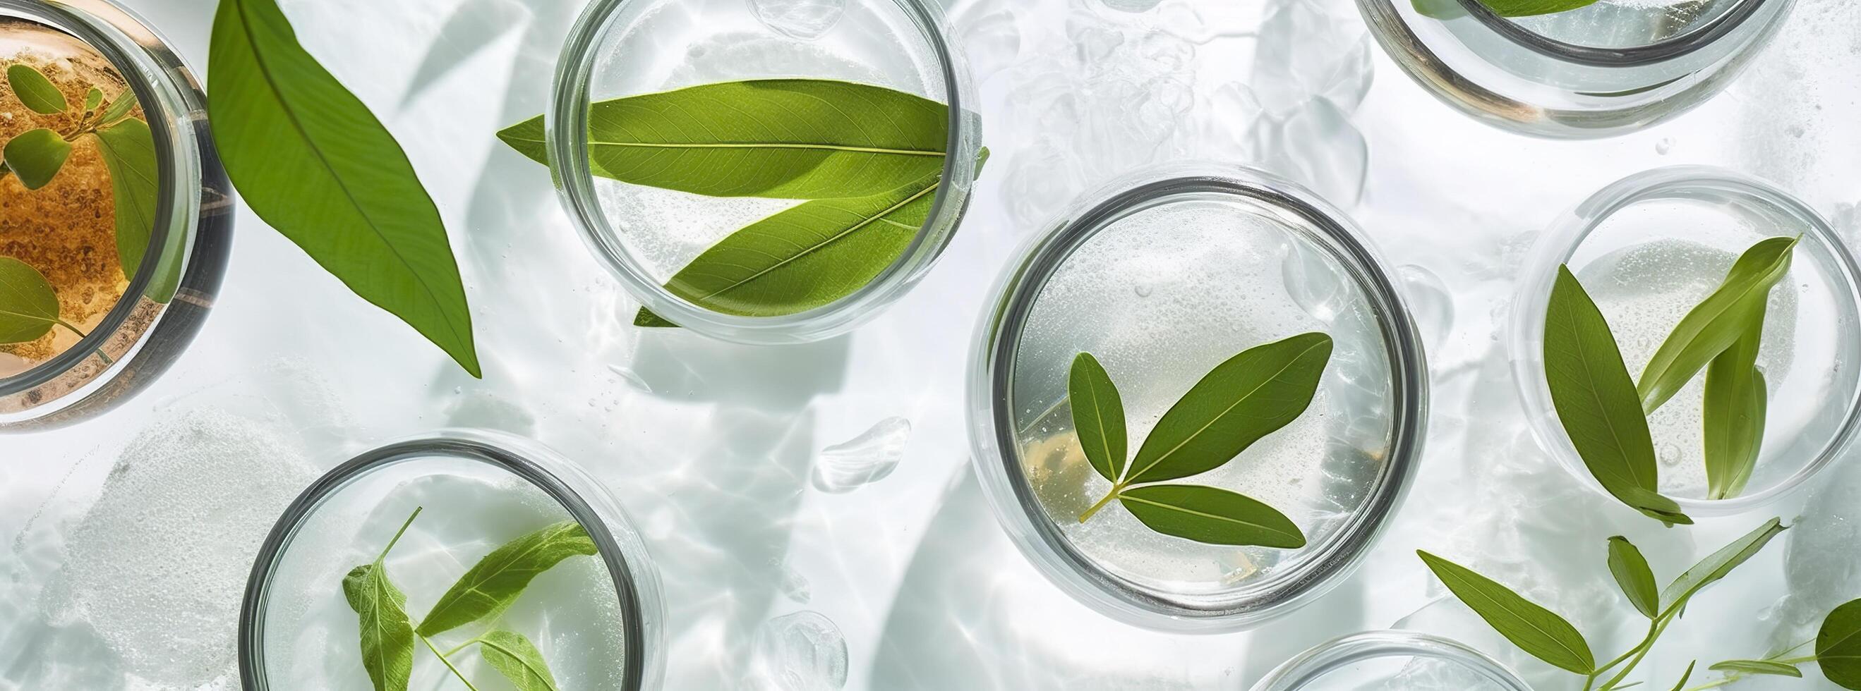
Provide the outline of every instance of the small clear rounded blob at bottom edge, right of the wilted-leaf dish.
{"type": "Polygon", "coordinates": [[[817,611],[763,624],[744,684],[756,691],[839,691],[847,685],[847,639],[817,611]]]}

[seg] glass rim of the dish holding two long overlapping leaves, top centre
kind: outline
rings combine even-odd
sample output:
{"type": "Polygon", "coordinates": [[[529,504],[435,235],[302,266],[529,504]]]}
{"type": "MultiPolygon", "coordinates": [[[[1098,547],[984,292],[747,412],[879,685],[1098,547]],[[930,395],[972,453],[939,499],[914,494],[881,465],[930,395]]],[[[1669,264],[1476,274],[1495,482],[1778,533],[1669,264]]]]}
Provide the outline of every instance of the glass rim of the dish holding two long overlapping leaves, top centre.
{"type": "MultiPolygon", "coordinates": [[[[685,329],[703,332],[713,338],[737,344],[793,344],[810,342],[845,332],[878,314],[878,310],[903,295],[936,262],[944,247],[949,245],[957,225],[968,206],[970,189],[957,189],[955,184],[942,184],[930,201],[923,227],[912,238],[904,253],[891,266],[882,269],[865,286],[797,314],[782,316],[737,316],[709,310],[674,295],[651,271],[640,266],[622,243],[601,202],[594,191],[594,175],[588,158],[581,152],[588,149],[588,82],[594,72],[596,46],[612,30],[612,15],[623,6],[651,0],[596,0],[575,20],[568,41],[562,43],[562,56],[556,61],[555,89],[551,106],[543,115],[543,139],[549,160],[558,162],[555,169],[556,195],[562,201],[571,223],[579,230],[582,243],[601,258],[627,292],[644,308],[674,321],[685,329]],[[960,195],[960,197],[953,197],[960,195]],[[953,214],[949,223],[942,223],[945,214],[953,214]]],[[[944,150],[942,180],[970,180],[962,175],[958,160],[970,136],[966,124],[964,91],[968,89],[966,67],[960,56],[944,35],[942,9],[929,0],[886,0],[895,4],[917,26],[925,45],[936,56],[940,76],[944,78],[945,106],[949,108],[949,139],[944,150]]],[[[968,163],[962,163],[968,165],[968,163]]]]}

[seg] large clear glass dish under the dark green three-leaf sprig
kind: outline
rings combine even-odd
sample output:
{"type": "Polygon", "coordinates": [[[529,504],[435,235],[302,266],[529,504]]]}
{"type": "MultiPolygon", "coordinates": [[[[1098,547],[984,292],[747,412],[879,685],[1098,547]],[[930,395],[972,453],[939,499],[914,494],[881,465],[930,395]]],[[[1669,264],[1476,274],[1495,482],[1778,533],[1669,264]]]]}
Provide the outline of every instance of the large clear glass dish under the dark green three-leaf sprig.
{"type": "Polygon", "coordinates": [[[1243,630],[1329,591],[1420,459],[1427,366],[1388,264],[1338,208],[1241,167],[1139,171],[1061,219],[1007,269],[971,353],[975,472],[1007,533],[1074,598],[1156,630],[1243,630]],[[1109,490],[1072,431],[1076,353],[1117,383],[1137,450],[1215,364],[1305,331],[1334,340],[1305,414],[1182,479],[1273,505],[1305,548],[1165,537],[1117,503],[1076,518],[1109,490]]]}

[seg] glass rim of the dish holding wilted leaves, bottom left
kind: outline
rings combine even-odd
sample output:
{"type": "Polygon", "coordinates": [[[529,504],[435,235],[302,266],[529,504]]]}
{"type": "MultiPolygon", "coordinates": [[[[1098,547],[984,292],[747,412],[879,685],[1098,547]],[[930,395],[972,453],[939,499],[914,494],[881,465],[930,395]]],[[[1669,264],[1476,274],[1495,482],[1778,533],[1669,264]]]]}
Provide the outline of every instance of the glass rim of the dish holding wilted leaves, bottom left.
{"type": "Polygon", "coordinates": [[[480,429],[441,429],[363,451],[311,483],[277,518],[259,548],[240,604],[238,672],[246,691],[272,687],[264,667],[264,619],[272,578],[303,520],[368,472],[421,457],[478,461],[529,481],[560,503],[588,531],[614,581],[625,632],[622,691],[659,687],[664,650],[659,572],[612,494],[581,466],[538,442],[480,429]]]}

